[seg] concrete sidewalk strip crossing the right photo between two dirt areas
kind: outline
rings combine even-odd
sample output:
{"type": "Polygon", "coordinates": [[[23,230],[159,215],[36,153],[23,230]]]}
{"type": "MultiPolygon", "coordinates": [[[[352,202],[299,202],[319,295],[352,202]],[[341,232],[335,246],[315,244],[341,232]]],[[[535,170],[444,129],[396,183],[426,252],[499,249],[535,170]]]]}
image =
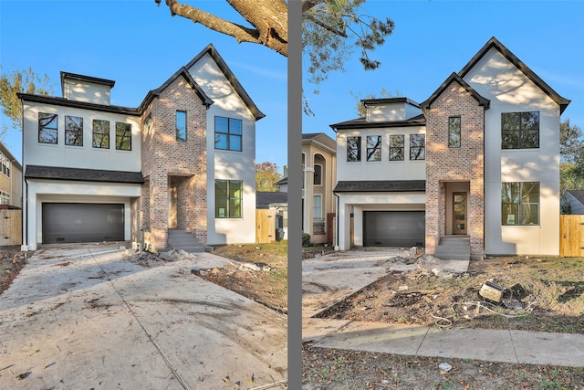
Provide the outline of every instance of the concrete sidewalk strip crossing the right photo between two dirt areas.
{"type": "Polygon", "coordinates": [[[302,342],[352,351],[584,367],[584,334],[441,330],[428,326],[305,318],[302,342]]]}

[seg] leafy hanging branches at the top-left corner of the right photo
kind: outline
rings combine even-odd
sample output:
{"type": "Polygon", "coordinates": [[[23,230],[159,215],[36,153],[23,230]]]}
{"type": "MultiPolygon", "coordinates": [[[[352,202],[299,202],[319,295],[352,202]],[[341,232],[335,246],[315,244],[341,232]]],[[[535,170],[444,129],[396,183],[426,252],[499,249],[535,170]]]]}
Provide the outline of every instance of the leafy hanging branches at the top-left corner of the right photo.
{"type": "MultiPolygon", "coordinates": [[[[303,3],[308,3],[304,0],[303,3]]],[[[322,0],[304,10],[302,48],[308,61],[308,82],[316,85],[328,77],[330,71],[344,71],[344,64],[355,48],[360,49],[363,69],[378,69],[380,61],[370,58],[370,51],[380,47],[393,32],[389,17],[361,15],[365,0],[322,0]]],[[[318,93],[318,90],[314,90],[318,93]]],[[[311,114],[306,99],[305,113],[311,114]]]]}

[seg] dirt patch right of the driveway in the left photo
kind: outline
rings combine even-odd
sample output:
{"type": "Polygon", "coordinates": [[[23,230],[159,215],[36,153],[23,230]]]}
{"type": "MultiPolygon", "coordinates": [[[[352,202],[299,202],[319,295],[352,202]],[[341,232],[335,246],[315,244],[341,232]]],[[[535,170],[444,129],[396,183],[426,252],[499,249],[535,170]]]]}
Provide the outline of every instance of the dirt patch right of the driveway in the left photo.
{"type": "Polygon", "coordinates": [[[226,245],[214,255],[237,260],[220,269],[197,271],[201,278],[287,313],[287,241],[272,244],[226,245]]]}

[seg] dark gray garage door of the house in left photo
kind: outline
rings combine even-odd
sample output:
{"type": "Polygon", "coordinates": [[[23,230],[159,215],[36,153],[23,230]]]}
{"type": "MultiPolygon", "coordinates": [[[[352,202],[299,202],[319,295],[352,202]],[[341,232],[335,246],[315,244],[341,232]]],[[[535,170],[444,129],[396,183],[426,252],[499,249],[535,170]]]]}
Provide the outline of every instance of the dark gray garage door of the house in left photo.
{"type": "Polygon", "coordinates": [[[124,206],[43,203],[43,243],[124,240],[124,206]]]}

